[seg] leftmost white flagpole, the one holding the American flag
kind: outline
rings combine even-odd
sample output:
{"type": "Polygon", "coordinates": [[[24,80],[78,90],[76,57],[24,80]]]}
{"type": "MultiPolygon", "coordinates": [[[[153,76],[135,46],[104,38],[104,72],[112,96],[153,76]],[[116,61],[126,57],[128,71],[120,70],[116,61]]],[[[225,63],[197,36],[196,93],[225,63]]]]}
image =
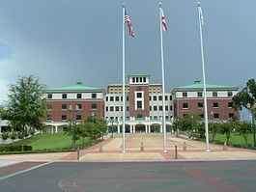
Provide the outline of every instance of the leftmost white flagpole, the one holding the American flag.
{"type": "Polygon", "coordinates": [[[126,152],[126,95],[125,95],[125,81],[126,81],[126,40],[125,40],[125,12],[126,12],[126,4],[122,4],[123,7],[123,55],[122,55],[122,61],[123,61],[123,143],[122,143],[122,152],[126,152]]]}

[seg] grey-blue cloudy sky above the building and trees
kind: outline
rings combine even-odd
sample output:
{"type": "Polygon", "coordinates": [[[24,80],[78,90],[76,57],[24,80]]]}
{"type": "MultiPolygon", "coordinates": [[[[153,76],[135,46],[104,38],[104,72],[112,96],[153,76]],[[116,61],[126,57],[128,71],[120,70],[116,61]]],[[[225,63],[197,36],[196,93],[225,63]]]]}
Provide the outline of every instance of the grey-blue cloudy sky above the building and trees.
{"type": "MultiPolygon", "coordinates": [[[[158,3],[163,34],[165,90],[202,79],[195,0],[0,0],[0,103],[19,75],[34,74],[48,88],[105,88],[122,83],[122,4],[126,74],[146,73],[161,83],[158,3]]],[[[202,0],[206,81],[244,86],[256,72],[256,1],[202,0]]]]}

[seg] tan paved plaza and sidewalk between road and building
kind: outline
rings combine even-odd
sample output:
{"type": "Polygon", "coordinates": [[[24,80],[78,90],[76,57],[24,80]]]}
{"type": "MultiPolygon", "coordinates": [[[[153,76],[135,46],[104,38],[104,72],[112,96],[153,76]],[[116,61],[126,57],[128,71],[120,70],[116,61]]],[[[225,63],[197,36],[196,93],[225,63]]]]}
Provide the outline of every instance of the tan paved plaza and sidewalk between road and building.
{"type": "MultiPolygon", "coordinates": [[[[153,136],[132,136],[126,138],[126,153],[122,150],[122,138],[109,138],[89,149],[80,151],[80,161],[176,161],[176,160],[237,160],[256,159],[256,151],[210,144],[210,152],[206,152],[203,142],[168,135],[167,150],[162,150],[163,140],[160,134],[153,136]],[[141,151],[143,143],[144,151],[141,151]],[[177,146],[178,159],[175,159],[174,148],[177,146]]],[[[0,161],[75,161],[76,152],[50,152],[37,154],[0,155],[0,161]]]]}

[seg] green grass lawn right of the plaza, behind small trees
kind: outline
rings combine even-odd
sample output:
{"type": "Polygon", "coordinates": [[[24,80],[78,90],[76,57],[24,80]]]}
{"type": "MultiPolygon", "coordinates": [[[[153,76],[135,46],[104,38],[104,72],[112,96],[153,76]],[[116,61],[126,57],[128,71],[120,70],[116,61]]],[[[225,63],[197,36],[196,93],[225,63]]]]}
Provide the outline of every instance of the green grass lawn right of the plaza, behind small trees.
{"type": "MultiPolygon", "coordinates": [[[[209,139],[210,141],[213,141],[213,134],[210,133],[209,134],[209,139]]],[[[217,133],[215,135],[215,142],[216,143],[224,143],[226,142],[226,135],[223,135],[223,134],[219,134],[217,133]]],[[[244,139],[242,137],[242,135],[239,135],[238,133],[232,133],[231,134],[231,138],[229,139],[229,144],[231,146],[240,146],[240,147],[244,147],[245,148],[245,142],[244,142],[244,139]]],[[[248,146],[252,146],[253,145],[253,135],[250,134],[248,136],[248,146]]]]}

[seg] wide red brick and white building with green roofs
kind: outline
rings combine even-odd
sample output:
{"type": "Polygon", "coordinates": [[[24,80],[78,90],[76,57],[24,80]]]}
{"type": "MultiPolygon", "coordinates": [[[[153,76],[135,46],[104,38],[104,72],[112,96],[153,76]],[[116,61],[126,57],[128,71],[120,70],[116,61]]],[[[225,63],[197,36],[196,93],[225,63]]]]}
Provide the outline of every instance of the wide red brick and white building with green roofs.
{"type": "MultiPolygon", "coordinates": [[[[210,120],[228,120],[239,117],[232,108],[232,96],[239,88],[207,85],[210,120]]],[[[80,121],[89,114],[105,119],[109,126],[121,132],[123,125],[123,86],[110,84],[106,89],[84,86],[77,82],[74,86],[48,89],[45,97],[48,103],[48,131],[61,132],[68,121],[80,121]]],[[[128,75],[125,86],[126,132],[162,132],[162,110],[165,110],[167,128],[176,117],[187,113],[204,116],[203,85],[196,81],[193,85],[175,88],[162,97],[161,84],[151,84],[150,75],[128,75]],[[162,107],[162,99],[165,108],[162,107]]]]}

